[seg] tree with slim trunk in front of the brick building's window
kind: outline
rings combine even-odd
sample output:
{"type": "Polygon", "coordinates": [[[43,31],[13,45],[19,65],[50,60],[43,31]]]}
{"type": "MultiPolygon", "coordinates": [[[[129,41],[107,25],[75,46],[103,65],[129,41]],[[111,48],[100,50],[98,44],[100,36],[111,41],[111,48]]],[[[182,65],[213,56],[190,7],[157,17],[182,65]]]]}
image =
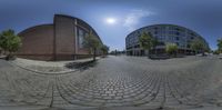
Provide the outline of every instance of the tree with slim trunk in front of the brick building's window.
{"type": "Polygon", "coordinates": [[[101,46],[101,42],[100,42],[100,40],[98,39],[98,37],[95,37],[94,34],[92,34],[92,32],[90,32],[90,34],[88,34],[88,36],[84,38],[83,46],[84,46],[85,48],[89,48],[90,50],[93,51],[93,61],[95,61],[97,50],[98,50],[98,49],[100,48],[100,46],[101,46]]]}

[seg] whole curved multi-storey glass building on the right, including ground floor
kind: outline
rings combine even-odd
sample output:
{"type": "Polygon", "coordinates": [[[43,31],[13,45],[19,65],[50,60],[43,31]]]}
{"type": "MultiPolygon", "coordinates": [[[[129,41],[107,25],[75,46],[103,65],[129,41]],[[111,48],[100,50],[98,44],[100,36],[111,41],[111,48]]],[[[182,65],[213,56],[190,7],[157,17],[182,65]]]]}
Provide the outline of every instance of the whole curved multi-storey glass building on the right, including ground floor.
{"type": "Polygon", "coordinates": [[[151,53],[165,53],[165,43],[178,44],[178,53],[191,54],[194,51],[190,47],[190,42],[194,39],[202,40],[206,47],[208,42],[196,32],[180,26],[174,24],[153,24],[140,28],[125,38],[125,48],[128,56],[144,56],[147,52],[140,47],[139,37],[142,32],[150,32],[158,41],[162,42],[152,49],[151,53]]]}

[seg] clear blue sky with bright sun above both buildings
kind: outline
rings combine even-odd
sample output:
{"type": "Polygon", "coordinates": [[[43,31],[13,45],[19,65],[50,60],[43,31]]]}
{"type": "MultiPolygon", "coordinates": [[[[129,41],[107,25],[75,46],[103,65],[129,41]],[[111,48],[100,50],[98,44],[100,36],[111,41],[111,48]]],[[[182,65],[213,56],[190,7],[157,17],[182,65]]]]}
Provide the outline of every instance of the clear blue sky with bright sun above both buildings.
{"type": "Polygon", "coordinates": [[[84,20],[111,50],[123,50],[133,30],[160,23],[189,28],[213,50],[222,38],[222,0],[0,0],[0,31],[52,23],[53,14],[84,20]]]}

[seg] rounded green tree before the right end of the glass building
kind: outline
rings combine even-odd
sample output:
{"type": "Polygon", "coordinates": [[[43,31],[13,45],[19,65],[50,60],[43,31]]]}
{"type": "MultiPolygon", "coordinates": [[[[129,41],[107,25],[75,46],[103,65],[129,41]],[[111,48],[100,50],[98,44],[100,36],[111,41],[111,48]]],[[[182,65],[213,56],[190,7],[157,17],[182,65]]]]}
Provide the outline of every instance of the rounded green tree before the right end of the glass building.
{"type": "Polygon", "coordinates": [[[192,42],[191,42],[191,49],[193,49],[195,51],[195,54],[201,51],[202,52],[202,56],[205,56],[204,52],[205,51],[209,51],[210,49],[208,48],[208,46],[204,44],[204,42],[200,39],[194,39],[192,42]]]}

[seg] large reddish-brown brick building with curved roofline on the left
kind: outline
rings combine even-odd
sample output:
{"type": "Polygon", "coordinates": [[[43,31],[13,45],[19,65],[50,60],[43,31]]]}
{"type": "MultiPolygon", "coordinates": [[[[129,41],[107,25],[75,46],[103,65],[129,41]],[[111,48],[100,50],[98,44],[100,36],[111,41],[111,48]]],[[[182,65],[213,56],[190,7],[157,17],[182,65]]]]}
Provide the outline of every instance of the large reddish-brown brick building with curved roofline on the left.
{"type": "Polygon", "coordinates": [[[83,20],[56,14],[52,24],[36,26],[18,34],[22,38],[22,47],[17,54],[34,60],[85,58],[91,53],[83,47],[83,40],[90,32],[100,40],[92,27],[83,20]]]}

